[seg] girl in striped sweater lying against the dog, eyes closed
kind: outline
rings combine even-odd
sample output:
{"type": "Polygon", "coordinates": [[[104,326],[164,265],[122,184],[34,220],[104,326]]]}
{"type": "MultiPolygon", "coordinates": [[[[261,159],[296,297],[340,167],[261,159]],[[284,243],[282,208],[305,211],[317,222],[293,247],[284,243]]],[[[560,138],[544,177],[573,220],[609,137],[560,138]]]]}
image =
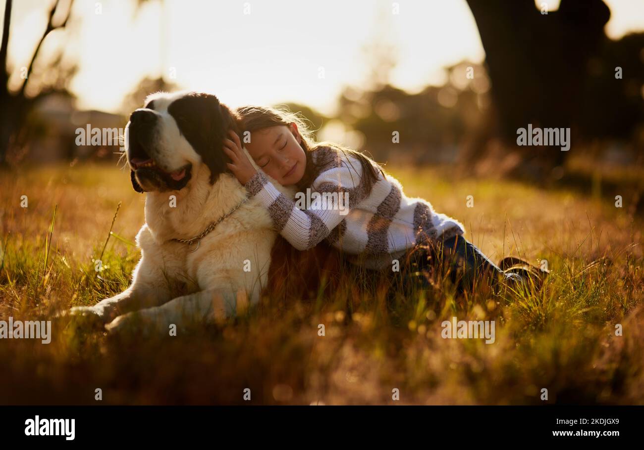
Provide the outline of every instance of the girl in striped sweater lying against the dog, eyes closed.
{"type": "Polygon", "coordinates": [[[244,146],[261,170],[249,161],[233,131],[224,139],[228,167],[295,248],[310,249],[325,240],[351,262],[372,269],[392,267],[393,260],[412,255],[424,268],[447,256],[453,269],[462,269],[460,281],[468,284],[478,275],[491,277],[493,284],[524,281],[525,276],[504,272],[464,239],[459,221],[435,212],[423,199],[406,197],[400,183],[372,159],[333,143],[316,143],[296,114],[257,106],[237,112],[242,133],[250,136],[244,146]],[[308,198],[312,192],[320,195],[299,209],[266,175],[299,192],[310,190],[308,198]]]}

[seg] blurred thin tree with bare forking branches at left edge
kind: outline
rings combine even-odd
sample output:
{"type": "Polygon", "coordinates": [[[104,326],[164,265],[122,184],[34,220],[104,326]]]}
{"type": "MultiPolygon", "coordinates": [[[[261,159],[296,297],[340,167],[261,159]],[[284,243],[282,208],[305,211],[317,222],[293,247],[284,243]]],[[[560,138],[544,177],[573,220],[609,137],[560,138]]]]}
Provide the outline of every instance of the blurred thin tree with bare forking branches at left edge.
{"type": "Polygon", "coordinates": [[[3,37],[0,44],[0,166],[6,166],[7,151],[11,145],[19,145],[24,136],[25,118],[33,107],[45,96],[52,93],[70,95],[67,85],[71,77],[76,73],[75,64],[62,64],[62,50],[59,54],[47,62],[38,60],[44,40],[53,30],[65,28],[70,19],[73,0],[68,2],[66,9],[59,8],[60,0],[57,0],[49,12],[49,20],[33,52],[30,63],[27,67],[20,67],[21,85],[15,91],[9,87],[9,76],[12,68],[8,67],[7,53],[9,46],[9,32],[11,29],[11,12],[13,1],[6,0],[5,19],[3,22],[3,37]],[[54,19],[61,17],[62,19],[54,19]],[[38,64],[36,64],[38,60],[38,64]],[[44,76],[46,74],[47,76],[44,76]],[[24,135],[24,134],[23,134],[24,135]]]}

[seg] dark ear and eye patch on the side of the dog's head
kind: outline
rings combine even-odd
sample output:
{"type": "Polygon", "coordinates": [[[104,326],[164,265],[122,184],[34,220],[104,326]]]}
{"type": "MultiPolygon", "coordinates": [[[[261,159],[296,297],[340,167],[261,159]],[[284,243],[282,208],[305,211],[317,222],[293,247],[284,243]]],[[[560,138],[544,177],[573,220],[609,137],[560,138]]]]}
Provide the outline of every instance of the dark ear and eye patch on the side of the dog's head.
{"type": "Polygon", "coordinates": [[[191,93],[172,102],[168,112],[210,169],[211,185],[220,174],[230,173],[226,163],[231,160],[223,152],[223,138],[231,127],[235,131],[237,127],[236,117],[226,105],[220,104],[214,95],[191,93]]]}

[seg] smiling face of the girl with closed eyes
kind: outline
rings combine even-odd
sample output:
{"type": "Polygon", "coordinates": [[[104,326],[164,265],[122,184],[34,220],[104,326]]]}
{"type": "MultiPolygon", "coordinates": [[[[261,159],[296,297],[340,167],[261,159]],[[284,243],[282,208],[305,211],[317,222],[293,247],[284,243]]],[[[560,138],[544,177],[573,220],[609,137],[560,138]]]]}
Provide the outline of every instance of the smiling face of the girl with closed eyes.
{"type": "Polygon", "coordinates": [[[251,133],[244,144],[255,163],[282,186],[298,183],[304,176],[307,156],[295,124],[275,125],[251,133]]]}

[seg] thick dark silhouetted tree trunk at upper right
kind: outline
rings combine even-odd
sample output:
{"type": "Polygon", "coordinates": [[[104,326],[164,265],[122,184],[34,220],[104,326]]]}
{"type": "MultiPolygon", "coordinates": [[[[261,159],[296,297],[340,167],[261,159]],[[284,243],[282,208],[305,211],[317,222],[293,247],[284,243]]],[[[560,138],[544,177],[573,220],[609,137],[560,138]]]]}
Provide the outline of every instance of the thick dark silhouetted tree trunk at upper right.
{"type": "Polygon", "coordinates": [[[602,0],[562,0],[547,14],[534,0],[467,1],[486,51],[498,131],[522,154],[518,173],[547,176],[568,152],[517,147],[517,129],[578,125],[587,67],[607,39],[611,12],[602,0]]]}

